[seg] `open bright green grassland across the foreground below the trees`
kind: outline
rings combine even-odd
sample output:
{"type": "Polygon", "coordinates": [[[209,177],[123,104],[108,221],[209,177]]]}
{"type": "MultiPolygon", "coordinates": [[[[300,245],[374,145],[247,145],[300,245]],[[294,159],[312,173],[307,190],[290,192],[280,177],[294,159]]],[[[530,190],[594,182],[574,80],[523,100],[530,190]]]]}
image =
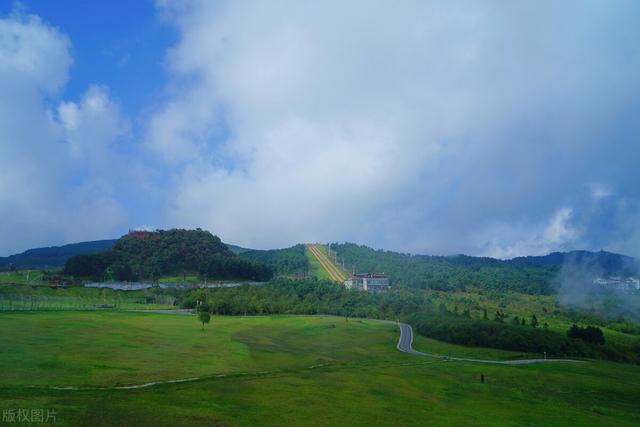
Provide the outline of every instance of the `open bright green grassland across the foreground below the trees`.
{"type": "MultiPolygon", "coordinates": [[[[447,362],[400,353],[397,338],[394,324],[330,316],[214,317],[202,332],[193,316],[3,313],[0,408],[52,408],[56,425],[640,423],[637,366],[447,362]],[[204,378],[47,388],[193,376],[204,378]]],[[[514,356],[425,338],[415,347],[514,356]]]]}

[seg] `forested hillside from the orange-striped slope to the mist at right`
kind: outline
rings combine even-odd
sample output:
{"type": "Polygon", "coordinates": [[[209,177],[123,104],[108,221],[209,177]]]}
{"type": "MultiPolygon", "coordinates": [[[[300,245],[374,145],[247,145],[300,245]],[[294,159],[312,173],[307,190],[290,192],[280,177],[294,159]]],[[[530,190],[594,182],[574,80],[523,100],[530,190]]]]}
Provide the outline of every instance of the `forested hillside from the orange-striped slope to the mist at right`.
{"type": "Polygon", "coordinates": [[[391,285],[405,288],[464,290],[467,286],[494,291],[551,294],[557,265],[513,264],[494,258],[427,256],[374,250],[353,243],[332,244],[331,249],[361,272],[382,271],[391,285]]]}

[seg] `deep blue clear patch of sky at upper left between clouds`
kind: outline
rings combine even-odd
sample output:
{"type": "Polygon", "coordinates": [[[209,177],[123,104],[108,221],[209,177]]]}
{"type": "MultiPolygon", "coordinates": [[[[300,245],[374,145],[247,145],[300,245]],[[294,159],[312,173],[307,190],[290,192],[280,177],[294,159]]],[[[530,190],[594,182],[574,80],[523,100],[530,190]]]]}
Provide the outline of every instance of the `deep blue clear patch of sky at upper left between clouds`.
{"type": "Polygon", "coordinates": [[[62,97],[77,99],[91,84],[106,84],[125,114],[136,116],[162,96],[166,49],[177,41],[173,27],[151,0],[3,2],[12,11],[40,16],[69,37],[74,63],[62,97]]]}

